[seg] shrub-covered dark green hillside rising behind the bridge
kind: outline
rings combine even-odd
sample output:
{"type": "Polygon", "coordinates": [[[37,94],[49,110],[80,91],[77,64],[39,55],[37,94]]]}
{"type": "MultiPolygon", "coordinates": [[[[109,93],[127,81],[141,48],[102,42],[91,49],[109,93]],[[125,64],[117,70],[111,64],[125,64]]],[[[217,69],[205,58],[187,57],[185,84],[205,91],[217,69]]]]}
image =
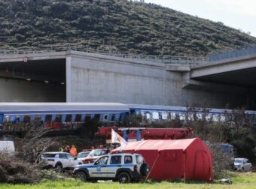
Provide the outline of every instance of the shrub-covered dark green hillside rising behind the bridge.
{"type": "Polygon", "coordinates": [[[0,0],[0,49],[76,44],[152,55],[206,55],[256,43],[244,32],[125,0],[0,0]]]}

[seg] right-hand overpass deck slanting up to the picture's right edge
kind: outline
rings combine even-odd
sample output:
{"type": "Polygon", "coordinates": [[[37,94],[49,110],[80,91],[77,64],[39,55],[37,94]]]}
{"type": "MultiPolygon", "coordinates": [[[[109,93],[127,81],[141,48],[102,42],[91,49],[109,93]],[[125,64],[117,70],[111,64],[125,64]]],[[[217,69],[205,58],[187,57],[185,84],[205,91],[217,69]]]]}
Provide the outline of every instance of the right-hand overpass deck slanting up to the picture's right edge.
{"type": "Polygon", "coordinates": [[[212,83],[256,87],[256,54],[196,65],[191,68],[190,78],[212,83]]]}

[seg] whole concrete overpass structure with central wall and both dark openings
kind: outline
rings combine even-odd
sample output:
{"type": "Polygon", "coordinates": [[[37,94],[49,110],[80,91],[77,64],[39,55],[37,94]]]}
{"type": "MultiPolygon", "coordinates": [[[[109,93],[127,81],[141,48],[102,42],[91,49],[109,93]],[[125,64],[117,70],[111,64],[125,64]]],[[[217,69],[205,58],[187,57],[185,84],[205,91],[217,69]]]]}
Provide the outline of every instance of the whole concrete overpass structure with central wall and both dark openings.
{"type": "Polygon", "coordinates": [[[0,101],[120,102],[256,110],[256,53],[206,58],[72,50],[0,52],[0,101]]]}

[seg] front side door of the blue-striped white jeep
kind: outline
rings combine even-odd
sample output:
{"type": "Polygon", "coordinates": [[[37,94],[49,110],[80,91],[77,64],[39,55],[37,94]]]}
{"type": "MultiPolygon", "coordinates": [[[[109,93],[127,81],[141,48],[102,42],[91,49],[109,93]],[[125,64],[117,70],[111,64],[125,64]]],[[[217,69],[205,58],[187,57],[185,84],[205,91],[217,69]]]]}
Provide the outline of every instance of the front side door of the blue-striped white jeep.
{"type": "Polygon", "coordinates": [[[96,162],[93,163],[93,166],[90,167],[90,177],[93,178],[105,178],[107,177],[107,163],[108,156],[102,156],[96,162]]]}

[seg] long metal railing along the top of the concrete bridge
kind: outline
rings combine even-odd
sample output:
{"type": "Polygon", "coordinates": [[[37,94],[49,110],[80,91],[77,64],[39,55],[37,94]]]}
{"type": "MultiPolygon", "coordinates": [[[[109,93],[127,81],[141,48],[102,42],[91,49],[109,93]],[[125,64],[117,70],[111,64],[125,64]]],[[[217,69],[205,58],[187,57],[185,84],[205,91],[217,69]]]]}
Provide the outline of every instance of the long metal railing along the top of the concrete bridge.
{"type": "Polygon", "coordinates": [[[74,50],[88,53],[96,53],[99,55],[110,55],[117,58],[126,58],[131,60],[139,60],[146,62],[161,62],[172,65],[200,65],[209,62],[206,57],[193,56],[172,56],[172,55],[137,55],[133,53],[121,53],[116,49],[108,48],[92,48],[90,46],[38,46],[27,49],[0,49],[0,58],[8,55],[27,55],[35,53],[60,52],[66,50],[74,50]]]}

